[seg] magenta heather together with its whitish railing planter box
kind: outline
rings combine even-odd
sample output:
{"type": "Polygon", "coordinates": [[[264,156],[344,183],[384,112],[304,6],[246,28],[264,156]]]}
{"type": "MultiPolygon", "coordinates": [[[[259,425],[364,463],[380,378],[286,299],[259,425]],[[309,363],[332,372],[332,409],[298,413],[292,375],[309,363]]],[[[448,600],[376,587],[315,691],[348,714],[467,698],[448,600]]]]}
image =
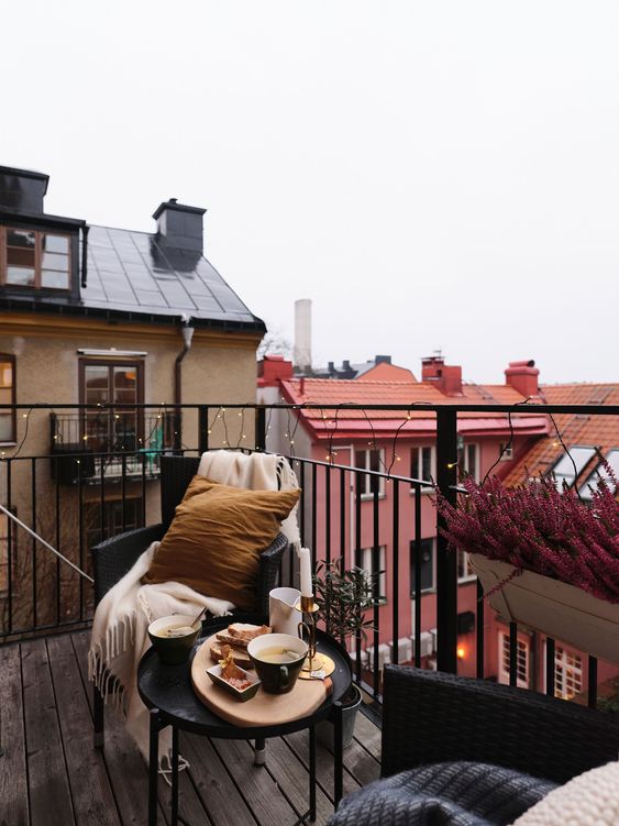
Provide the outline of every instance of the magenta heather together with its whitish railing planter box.
{"type": "Polygon", "coordinates": [[[606,465],[584,500],[554,476],[506,487],[465,478],[466,495],[436,507],[452,548],[471,554],[490,605],[583,651],[619,661],[619,504],[606,465]],[[611,487],[612,489],[611,489],[611,487]]]}

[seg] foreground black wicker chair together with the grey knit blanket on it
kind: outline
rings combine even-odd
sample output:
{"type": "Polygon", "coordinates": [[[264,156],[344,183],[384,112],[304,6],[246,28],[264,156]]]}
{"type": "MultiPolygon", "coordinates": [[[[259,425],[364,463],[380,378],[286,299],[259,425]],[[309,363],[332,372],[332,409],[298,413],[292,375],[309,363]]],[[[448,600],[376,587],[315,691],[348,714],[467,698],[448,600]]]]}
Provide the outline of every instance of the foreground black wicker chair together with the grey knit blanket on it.
{"type": "Polygon", "coordinates": [[[383,780],[344,801],[330,824],[419,823],[421,811],[430,817],[424,806],[438,805],[436,794],[447,814],[423,823],[479,823],[479,811],[457,814],[468,813],[469,803],[504,822],[507,810],[518,816],[554,784],[617,760],[618,747],[619,720],[603,712],[484,680],[387,665],[383,780]]]}

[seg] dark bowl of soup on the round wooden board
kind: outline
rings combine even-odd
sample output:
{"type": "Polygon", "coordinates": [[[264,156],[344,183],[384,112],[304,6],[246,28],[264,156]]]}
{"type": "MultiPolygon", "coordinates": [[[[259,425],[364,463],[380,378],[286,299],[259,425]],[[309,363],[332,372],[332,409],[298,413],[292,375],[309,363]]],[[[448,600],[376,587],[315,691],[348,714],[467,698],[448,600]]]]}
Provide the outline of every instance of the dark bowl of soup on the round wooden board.
{"type": "Polygon", "coordinates": [[[264,634],[247,646],[262,687],[270,694],[292,691],[308,653],[308,643],[290,634],[264,634]]]}

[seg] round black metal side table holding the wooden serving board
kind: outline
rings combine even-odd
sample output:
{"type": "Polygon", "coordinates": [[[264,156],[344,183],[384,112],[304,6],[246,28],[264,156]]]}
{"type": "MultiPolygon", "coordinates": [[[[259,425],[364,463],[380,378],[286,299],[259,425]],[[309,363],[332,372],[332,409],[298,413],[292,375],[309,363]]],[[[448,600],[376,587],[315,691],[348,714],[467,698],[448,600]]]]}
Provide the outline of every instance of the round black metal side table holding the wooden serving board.
{"type": "MultiPolygon", "coordinates": [[[[172,826],[178,824],[178,731],[192,731],[213,738],[231,740],[264,740],[309,729],[309,810],[298,823],[316,819],[316,729],[317,723],[331,719],[334,724],[334,802],[335,808],[342,799],[343,749],[342,749],[342,698],[352,683],[352,663],[345,649],[332,637],[317,631],[318,650],[335,663],[331,674],[333,692],[313,714],[301,719],[274,726],[235,726],[218,717],[198,698],[191,684],[191,662],[197,649],[217,631],[225,628],[229,620],[205,625],[205,636],[191,651],[189,660],[181,665],[166,665],[154,648],[148,649],[137,669],[137,691],[151,709],[151,737],[148,750],[148,826],[157,823],[157,775],[159,731],[172,726],[172,826]]],[[[248,701],[250,703],[252,701],[248,701]]]]}

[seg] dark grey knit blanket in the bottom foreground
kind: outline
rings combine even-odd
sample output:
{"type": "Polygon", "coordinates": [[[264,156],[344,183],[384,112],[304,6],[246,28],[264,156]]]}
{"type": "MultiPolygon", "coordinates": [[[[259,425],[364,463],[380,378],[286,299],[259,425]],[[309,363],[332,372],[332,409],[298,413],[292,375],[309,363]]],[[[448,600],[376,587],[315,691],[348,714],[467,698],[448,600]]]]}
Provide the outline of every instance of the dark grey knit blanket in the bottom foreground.
{"type": "Polygon", "coordinates": [[[329,826],[508,826],[555,785],[499,766],[435,763],[351,794],[329,826]]]}

